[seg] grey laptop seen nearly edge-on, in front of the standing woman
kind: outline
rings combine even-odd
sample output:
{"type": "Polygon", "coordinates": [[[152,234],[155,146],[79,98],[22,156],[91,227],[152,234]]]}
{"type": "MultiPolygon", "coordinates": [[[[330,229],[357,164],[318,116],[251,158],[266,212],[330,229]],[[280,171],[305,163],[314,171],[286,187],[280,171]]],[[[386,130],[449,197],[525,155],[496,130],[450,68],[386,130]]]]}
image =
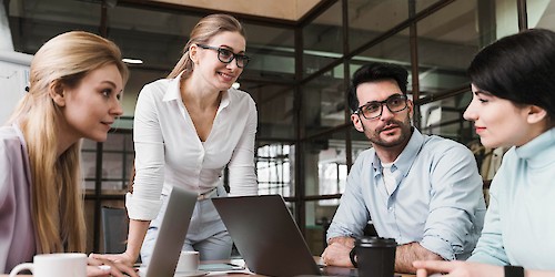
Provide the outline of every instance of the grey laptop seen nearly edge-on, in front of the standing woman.
{"type": "Polygon", "coordinates": [[[172,188],[150,264],[145,269],[141,268],[139,270],[140,276],[173,277],[194,205],[196,204],[196,193],[189,192],[185,188],[176,186],[172,188]]]}

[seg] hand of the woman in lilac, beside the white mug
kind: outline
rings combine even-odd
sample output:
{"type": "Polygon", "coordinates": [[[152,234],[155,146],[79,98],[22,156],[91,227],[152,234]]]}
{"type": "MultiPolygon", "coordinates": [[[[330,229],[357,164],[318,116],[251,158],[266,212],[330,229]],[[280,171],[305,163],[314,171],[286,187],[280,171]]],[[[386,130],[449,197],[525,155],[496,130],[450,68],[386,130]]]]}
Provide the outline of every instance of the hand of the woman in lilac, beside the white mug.
{"type": "MultiPolygon", "coordinates": [[[[123,255],[123,254],[120,254],[123,255]]],[[[92,254],[89,255],[88,266],[87,266],[87,276],[115,276],[123,277],[139,277],[137,270],[132,267],[132,265],[122,263],[120,260],[111,260],[108,258],[102,258],[102,256],[119,256],[119,255],[98,255],[92,254]]],[[[115,257],[114,257],[115,258],[115,257]]]]}

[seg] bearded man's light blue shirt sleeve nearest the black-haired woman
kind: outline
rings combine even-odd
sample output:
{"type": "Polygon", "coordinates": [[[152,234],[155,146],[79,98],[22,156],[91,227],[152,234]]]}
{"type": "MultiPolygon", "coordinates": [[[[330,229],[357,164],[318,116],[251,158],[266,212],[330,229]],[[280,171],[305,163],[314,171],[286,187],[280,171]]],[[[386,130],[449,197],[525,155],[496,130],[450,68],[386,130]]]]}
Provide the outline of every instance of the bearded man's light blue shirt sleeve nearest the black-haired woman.
{"type": "Polygon", "coordinates": [[[485,213],[483,182],[474,156],[463,145],[450,147],[431,166],[435,168],[431,168],[430,214],[421,245],[454,260],[470,253],[480,236],[485,213]]]}

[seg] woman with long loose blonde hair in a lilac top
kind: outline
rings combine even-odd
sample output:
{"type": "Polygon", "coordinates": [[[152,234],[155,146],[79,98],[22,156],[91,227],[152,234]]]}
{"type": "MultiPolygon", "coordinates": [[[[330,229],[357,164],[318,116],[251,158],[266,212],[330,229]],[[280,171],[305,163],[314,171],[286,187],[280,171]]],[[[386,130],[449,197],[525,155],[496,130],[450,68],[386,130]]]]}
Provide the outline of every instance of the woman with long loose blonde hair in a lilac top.
{"type": "MultiPolygon", "coordinates": [[[[60,34],[34,55],[30,91],[0,127],[0,273],[36,254],[85,252],[81,138],[107,140],[127,79],[118,47],[95,34],[60,34]]],[[[89,276],[137,276],[89,265],[89,276]]]]}

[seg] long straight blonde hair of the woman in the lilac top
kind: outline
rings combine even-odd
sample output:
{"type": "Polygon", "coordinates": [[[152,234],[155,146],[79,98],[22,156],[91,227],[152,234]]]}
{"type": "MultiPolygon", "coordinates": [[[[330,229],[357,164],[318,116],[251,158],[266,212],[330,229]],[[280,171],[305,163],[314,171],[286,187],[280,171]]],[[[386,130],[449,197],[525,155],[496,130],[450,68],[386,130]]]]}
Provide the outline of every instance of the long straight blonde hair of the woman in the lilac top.
{"type": "Polygon", "coordinates": [[[82,31],[51,39],[34,54],[29,93],[9,121],[20,125],[27,141],[38,253],[83,253],[87,243],[81,142],[58,156],[57,122],[62,114],[49,91],[75,88],[89,72],[109,64],[119,69],[125,82],[128,69],[113,42],[82,31]]]}

